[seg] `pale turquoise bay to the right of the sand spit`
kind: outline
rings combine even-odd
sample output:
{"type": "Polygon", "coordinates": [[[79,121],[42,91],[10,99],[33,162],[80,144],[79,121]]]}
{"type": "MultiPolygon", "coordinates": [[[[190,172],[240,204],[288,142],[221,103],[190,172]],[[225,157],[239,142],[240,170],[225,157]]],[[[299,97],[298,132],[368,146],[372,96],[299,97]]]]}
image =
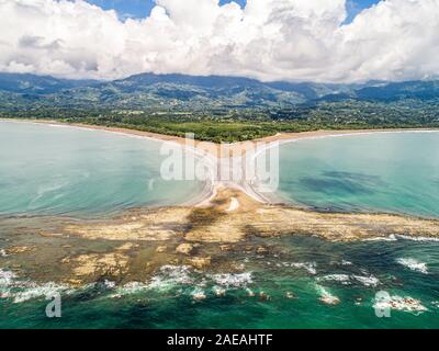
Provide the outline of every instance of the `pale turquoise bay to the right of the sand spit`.
{"type": "Polygon", "coordinates": [[[439,133],[375,133],[281,146],[279,194],[337,211],[439,216],[439,133]]]}

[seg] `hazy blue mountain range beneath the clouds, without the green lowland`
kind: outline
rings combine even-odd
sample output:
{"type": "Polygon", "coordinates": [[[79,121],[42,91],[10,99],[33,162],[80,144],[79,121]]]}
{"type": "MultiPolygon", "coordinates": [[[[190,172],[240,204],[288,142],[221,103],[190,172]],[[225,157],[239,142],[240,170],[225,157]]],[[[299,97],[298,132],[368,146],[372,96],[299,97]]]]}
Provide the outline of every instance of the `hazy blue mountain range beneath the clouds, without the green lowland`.
{"type": "Polygon", "coordinates": [[[142,73],[114,81],[0,73],[0,110],[285,109],[322,102],[430,101],[439,81],[356,84],[262,82],[241,77],[142,73]]]}

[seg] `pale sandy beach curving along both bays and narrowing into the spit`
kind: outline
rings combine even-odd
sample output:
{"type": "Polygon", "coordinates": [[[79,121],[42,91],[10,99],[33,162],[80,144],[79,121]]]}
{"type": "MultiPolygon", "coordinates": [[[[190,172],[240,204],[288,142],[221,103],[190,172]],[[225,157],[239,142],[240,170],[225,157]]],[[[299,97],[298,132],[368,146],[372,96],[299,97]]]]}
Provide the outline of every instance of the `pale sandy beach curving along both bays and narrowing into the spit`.
{"type": "MultiPolygon", "coordinates": [[[[229,189],[235,191],[240,191],[245,193],[247,196],[252,199],[254,201],[267,204],[267,205],[279,205],[284,202],[282,199],[274,193],[262,194],[256,190],[256,186],[250,184],[247,181],[244,182],[234,182],[234,181],[222,181],[221,179],[216,179],[215,172],[218,171],[218,167],[221,167],[222,161],[228,161],[233,156],[236,157],[236,154],[239,157],[244,158],[246,152],[255,149],[258,144],[258,151],[254,155],[254,158],[257,157],[260,152],[275,146],[295,143],[300,140],[306,139],[319,139],[319,138],[328,138],[328,137],[342,137],[342,136],[354,136],[354,135],[370,135],[370,134],[386,134],[386,133],[439,133],[439,128],[386,128],[386,129],[339,129],[339,131],[314,131],[314,132],[297,132],[297,133],[278,133],[272,136],[258,138],[254,140],[238,141],[233,144],[227,144],[226,151],[227,155],[222,155],[221,145],[212,141],[200,141],[200,140],[190,140],[171,135],[136,131],[130,128],[121,128],[121,127],[108,127],[108,126],[99,126],[99,125],[89,125],[89,124],[80,124],[80,123],[65,123],[58,121],[50,120],[22,120],[22,118],[0,118],[0,122],[14,122],[14,123],[33,123],[33,124],[44,124],[52,126],[63,126],[63,127],[75,127],[90,131],[101,131],[114,134],[122,134],[126,136],[136,136],[142,138],[147,138],[154,141],[162,141],[162,143],[175,143],[179,146],[182,146],[187,151],[192,152],[198,160],[201,160],[204,163],[205,169],[209,170],[209,178],[205,179],[204,189],[187,202],[181,203],[181,206],[194,206],[194,207],[203,207],[210,206],[212,201],[218,194],[218,191],[223,189],[229,189]],[[260,145],[262,145],[260,147],[260,145]],[[232,154],[232,157],[230,157],[232,154]]],[[[240,167],[244,167],[244,163],[240,162],[240,167]]],[[[290,206],[294,206],[289,204],[290,206]]],[[[303,208],[296,206],[297,208],[303,208]]]]}

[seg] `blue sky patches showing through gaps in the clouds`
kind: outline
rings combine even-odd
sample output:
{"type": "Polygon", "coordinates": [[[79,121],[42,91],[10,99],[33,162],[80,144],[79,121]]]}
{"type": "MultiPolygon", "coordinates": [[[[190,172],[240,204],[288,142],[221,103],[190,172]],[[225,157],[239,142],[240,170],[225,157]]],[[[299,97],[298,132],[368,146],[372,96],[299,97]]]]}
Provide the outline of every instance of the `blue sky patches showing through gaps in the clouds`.
{"type": "MultiPolygon", "coordinates": [[[[232,0],[221,0],[222,3],[230,2],[232,0]]],[[[380,0],[349,0],[348,11],[349,18],[347,22],[351,22],[361,10],[370,8],[380,0]]],[[[102,9],[114,9],[122,19],[124,18],[145,18],[149,14],[154,7],[154,0],[88,0],[102,9]]],[[[240,5],[245,5],[246,0],[235,0],[240,5]]]]}

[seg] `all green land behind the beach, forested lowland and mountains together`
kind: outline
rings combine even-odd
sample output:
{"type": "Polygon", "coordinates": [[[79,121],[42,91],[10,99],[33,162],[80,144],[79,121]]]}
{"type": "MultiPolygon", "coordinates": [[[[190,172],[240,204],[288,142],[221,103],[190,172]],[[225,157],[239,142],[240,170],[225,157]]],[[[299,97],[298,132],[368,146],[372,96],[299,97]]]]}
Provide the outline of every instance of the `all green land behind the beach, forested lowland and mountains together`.
{"type": "Polygon", "coordinates": [[[0,73],[0,117],[195,133],[213,141],[323,128],[439,127],[439,81],[324,84],[153,73],[78,81],[0,73]]]}

